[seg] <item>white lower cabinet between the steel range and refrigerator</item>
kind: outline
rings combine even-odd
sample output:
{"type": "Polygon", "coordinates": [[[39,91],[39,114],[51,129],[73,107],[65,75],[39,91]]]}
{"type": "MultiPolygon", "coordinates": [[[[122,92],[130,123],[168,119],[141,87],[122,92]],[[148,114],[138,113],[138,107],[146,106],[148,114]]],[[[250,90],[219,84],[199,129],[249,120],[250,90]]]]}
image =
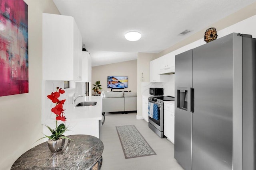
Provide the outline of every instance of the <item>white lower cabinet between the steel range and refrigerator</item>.
{"type": "Polygon", "coordinates": [[[174,144],[174,101],[164,102],[164,135],[174,144]]]}

